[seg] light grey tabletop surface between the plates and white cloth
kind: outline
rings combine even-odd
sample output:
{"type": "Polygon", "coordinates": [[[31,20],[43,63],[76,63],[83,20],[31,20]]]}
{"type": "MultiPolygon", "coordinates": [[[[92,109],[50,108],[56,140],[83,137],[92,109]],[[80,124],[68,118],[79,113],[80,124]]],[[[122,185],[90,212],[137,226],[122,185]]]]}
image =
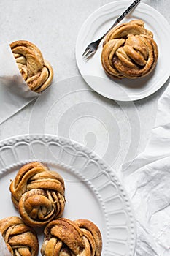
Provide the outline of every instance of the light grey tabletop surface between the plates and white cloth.
{"type": "MultiPolygon", "coordinates": [[[[116,103],[93,92],[77,69],[74,49],[82,23],[109,2],[0,1],[1,42],[34,42],[55,74],[45,96],[0,125],[0,140],[29,132],[62,135],[87,144],[115,170],[127,154],[134,157],[143,151],[154,125],[158,99],[168,82],[146,99],[116,103]]],[[[161,12],[170,23],[169,0],[142,2],[161,12]]]]}

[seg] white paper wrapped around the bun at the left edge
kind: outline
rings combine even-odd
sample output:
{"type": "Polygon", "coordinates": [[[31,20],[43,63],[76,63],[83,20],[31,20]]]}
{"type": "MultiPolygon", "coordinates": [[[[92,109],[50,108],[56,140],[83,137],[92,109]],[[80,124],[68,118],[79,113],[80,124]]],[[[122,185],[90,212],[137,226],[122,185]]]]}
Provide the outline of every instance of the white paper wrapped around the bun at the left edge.
{"type": "Polygon", "coordinates": [[[0,124],[39,94],[31,91],[15,62],[8,43],[0,45],[0,124]]]}

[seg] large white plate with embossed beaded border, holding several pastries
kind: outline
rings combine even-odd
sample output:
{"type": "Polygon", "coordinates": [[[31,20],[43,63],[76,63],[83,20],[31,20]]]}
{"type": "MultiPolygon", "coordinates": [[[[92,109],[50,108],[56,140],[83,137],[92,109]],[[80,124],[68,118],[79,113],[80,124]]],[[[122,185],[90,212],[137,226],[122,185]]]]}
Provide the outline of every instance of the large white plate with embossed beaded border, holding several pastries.
{"type": "MultiPolygon", "coordinates": [[[[45,162],[63,176],[63,217],[96,223],[103,238],[102,255],[134,255],[134,216],[115,173],[87,148],[53,135],[23,135],[0,143],[0,219],[19,216],[12,205],[9,184],[19,168],[32,161],[45,162]]],[[[39,233],[40,248],[42,239],[39,233]]]]}

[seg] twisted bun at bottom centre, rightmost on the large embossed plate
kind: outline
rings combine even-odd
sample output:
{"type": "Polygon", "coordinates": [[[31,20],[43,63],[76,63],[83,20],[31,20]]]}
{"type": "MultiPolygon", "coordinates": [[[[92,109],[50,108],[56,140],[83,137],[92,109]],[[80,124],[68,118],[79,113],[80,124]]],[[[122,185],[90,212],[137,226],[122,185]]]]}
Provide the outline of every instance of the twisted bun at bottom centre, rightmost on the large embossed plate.
{"type": "Polygon", "coordinates": [[[72,221],[59,218],[45,227],[42,256],[100,256],[101,233],[88,219],[72,221]]]}

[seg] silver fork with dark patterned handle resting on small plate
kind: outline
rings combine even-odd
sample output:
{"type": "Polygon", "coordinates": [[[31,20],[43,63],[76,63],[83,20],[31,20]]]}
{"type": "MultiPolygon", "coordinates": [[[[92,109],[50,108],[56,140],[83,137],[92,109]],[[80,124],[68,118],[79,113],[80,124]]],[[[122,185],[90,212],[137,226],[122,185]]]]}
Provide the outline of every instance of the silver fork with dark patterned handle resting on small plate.
{"type": "Polygon", "coordinates": [[[115,27],[118,23],[120,23],[123,18],[125,18],[126,15],[128,15],[131,10],[136,7],[137,4],[139,4],[139,1],[141,0],[135,0],[133,3],[123,12],[122,15],[120,15],[116,20],[115,23],[111,26],[111,28],[98,40],[91,42],[90,45],[85,49],[84,53],[82,53],[82,57],[85,58],[86,60],[90,59],[94,53],[96,53],[96,50],[98,49],[98,45],[100,44],[101,40],[106,36],[106,34],[113,28],[115,27]]]}

